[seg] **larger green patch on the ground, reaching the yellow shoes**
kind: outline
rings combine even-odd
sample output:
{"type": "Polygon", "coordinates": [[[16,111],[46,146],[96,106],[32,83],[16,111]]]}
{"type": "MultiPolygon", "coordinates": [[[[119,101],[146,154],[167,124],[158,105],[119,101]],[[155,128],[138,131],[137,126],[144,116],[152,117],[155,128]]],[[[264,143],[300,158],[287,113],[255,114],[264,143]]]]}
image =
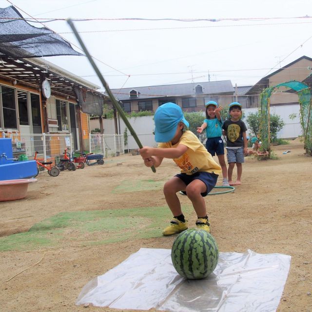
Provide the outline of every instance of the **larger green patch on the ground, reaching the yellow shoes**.
{"type": "MultiPolygon", "coordinates": [[[[194,214],[192,206],[183,208],[194,214]]],[[[161,237],[169,225],[167,206],[62,212],[32,226],[28,232],[0,237],[0,251],[39,247],[103,245],[127,239],[161,237]]]]}

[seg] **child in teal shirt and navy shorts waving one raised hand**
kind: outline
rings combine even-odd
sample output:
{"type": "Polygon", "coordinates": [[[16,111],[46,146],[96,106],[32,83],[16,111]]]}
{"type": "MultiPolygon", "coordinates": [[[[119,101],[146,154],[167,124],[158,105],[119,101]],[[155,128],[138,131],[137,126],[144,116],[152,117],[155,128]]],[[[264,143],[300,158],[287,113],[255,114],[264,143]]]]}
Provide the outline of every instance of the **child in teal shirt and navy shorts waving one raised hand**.
{"type": "Polygon", "coordinates": [[[215,101],[209,101],[205,104],[206,107],[206,119],[203,124],[197,128],[198,133],[202,133],[206,129],[206,149],[212,156],[217,156],[219,164],[222,169],[223,186],[229,186],[227,179],[227,169],[224,160],[224,144],[221,138],[222,135],[222,119],[220,111],[221,106],[215,101]]]}

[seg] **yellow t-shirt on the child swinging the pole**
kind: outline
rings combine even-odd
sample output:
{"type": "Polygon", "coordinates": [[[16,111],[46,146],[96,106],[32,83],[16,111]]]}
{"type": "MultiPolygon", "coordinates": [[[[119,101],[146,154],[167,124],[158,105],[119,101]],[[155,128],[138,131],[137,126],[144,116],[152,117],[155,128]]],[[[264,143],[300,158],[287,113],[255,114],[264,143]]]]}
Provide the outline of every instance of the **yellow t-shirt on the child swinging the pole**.
{"type": "Polygon", "coordinates": [[[218,165],[213,156],[208,153],[205,146],[199,141],[195,134],[189,130],[183,132],[180,140],[172,145],[171,142],[159,143],[159,148],[176,147],[183,144],[188,147],[187,151],[179,158],[174,158],[174,162],[180,167],[181,173],[193,175],[198,171],[210,172],[221,175],[221,167],[218,165]]]}

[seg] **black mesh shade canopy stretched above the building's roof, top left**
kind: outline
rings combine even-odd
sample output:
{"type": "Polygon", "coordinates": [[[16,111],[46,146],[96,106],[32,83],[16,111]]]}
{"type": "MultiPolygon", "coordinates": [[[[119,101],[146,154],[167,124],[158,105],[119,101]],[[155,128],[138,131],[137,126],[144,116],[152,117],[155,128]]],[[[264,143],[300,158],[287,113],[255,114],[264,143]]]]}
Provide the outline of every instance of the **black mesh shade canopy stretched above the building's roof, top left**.
{"type": "Polygon", "coordinates": [[[0,57],[34,58],[83,55],[53,31],[37,28],[23,19],[13,6],[0,8],[0,57]]]}

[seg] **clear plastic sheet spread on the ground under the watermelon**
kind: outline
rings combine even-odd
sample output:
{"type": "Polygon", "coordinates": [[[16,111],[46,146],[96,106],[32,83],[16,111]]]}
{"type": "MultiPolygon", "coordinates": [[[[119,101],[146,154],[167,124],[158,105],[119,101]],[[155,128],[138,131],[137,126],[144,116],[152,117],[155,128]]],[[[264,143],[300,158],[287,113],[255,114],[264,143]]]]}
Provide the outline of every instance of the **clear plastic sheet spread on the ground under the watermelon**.
{"type": "Polygon", "coordinates": [[[172,312],[276,311],[291,256],[220,253],[215,271],[202,280],[176,273],[171,250],[141,248],[87,283],[77,305],[172,312]]]}

